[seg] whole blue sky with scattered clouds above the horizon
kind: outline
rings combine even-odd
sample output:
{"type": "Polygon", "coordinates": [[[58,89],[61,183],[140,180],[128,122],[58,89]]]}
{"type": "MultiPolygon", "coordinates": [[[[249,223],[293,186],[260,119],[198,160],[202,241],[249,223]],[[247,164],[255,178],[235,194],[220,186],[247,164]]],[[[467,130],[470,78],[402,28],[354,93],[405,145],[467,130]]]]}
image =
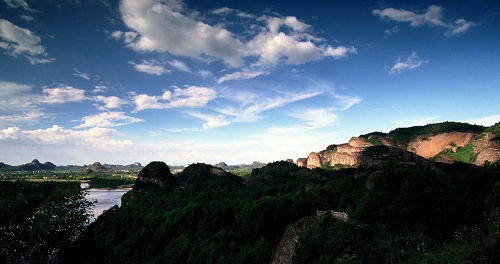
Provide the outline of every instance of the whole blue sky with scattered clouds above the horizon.
{"type": "Polygon", "coordinates": [[[0,0],[10,165],[296,161],[499,99],[498,0],[0,0]]]}

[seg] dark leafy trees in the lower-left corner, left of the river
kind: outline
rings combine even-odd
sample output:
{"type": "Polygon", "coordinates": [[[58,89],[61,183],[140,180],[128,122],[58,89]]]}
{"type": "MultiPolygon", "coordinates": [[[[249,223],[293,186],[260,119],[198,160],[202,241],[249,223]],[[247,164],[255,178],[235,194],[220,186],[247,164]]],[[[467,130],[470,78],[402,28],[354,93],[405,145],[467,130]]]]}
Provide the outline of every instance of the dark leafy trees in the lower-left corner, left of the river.
{"type": "Polygon", "coordinates": [[[53,263],[89,224],[77,183],[0,182],[0,262],[53,263]]]}

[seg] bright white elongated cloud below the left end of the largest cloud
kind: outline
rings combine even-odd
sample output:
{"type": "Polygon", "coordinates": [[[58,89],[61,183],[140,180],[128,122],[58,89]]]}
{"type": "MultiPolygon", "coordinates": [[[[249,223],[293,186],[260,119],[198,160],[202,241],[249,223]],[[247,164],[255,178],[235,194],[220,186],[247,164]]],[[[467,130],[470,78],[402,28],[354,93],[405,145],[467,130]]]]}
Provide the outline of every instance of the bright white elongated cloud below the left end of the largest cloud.
{"type": "Polygon", "coordinates": [[[204,107],[210,100],[217,97],[213,88],[189,86],[175,87],[173,91],[165,91],[161,96],[146,94],[134,97],[135,110],[168,109],[168,108],[199,108],[204,107]]]}

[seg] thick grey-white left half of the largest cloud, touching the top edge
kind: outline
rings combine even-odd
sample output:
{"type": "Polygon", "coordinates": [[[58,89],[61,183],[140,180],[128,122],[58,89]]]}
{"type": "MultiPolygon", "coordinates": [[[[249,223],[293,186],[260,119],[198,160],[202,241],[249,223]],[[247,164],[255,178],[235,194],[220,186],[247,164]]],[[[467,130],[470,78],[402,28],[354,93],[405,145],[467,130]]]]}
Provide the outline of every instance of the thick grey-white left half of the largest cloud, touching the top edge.
{"type": "Polygon", "coordinates": [[[128,46],[137,51],[170,52],[196,59],[211,56],[235,67],[243,64],[243,45],[232,33],[181,11],[182,2],[176,0],[121,1],[122,20],[138,34],[128,46]]]}

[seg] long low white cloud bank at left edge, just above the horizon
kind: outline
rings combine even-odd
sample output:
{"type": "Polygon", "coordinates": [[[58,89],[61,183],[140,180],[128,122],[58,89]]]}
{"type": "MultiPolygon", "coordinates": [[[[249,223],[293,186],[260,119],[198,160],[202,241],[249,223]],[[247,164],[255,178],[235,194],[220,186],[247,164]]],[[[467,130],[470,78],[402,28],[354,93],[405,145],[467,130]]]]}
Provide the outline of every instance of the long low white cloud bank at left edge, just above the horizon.
{"type": "Polygon", "coordinates": [[[54,125],[47,129],[23,130],[19,127],[8,127],[0,130],[0,141],[16,142],[18,145],[55,145],[86,146],[92,149],[122,148],[131,145],[129,140],[114,140],[123,136],[115,129],[93,127],[77,131],[54,125]]]}

